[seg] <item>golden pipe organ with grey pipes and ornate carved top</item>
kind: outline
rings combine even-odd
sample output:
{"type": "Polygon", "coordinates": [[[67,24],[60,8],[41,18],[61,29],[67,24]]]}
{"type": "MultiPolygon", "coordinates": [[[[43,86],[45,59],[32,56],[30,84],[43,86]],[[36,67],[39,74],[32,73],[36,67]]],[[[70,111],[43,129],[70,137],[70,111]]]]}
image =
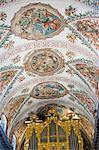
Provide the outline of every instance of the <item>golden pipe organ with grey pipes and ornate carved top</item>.
{"type": "Polygon", "coordinates": [[[80,119],[75,116],[60,117],[51,109],[44,121],[33,115],[26,124],[24,150],[83,150],[80,119]]]}

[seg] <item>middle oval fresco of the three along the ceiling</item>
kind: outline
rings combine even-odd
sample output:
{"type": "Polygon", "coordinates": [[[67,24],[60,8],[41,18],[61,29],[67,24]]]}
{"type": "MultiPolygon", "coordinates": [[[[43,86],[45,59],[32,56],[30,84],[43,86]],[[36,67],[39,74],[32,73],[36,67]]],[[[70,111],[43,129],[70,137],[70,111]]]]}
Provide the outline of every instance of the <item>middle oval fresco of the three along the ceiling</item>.
{"type": "Polygon", "coordinates": [[[49,48],[32,53],[24,64],[25,70],[38,75],[52,75],[64,66],[63,59],[49,48]]]}

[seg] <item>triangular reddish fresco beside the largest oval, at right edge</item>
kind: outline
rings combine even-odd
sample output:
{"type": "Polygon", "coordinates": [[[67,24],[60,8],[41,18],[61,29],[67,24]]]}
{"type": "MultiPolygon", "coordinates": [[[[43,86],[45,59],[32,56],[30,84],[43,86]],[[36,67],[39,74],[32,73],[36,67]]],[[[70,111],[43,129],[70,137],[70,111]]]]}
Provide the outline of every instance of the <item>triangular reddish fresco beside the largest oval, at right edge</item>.
{"type": "Polygon", "coordinates": [[[99,35],[98,35],[98,26],[99,20],[98,17],[93,18],[85,18],[81,20],[74,21],[72,26],[76,28],[78,32],[82,34],[82,36],[86,37],[86,40],[96,49],[99,49],[99,35]]]}

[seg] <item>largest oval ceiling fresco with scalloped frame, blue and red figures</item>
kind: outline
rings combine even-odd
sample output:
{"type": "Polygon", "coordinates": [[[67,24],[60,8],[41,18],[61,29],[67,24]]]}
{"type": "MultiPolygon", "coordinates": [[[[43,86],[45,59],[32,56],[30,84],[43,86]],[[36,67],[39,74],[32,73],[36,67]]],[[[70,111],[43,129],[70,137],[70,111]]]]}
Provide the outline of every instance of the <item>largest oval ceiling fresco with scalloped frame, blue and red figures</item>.
{"type": "Polygon", "coordinates": [[[29,40],[53,37],[64,28],[63,16],[53,7],[33,3],[22,7],[12,19],[12,32],[29,40]]]}

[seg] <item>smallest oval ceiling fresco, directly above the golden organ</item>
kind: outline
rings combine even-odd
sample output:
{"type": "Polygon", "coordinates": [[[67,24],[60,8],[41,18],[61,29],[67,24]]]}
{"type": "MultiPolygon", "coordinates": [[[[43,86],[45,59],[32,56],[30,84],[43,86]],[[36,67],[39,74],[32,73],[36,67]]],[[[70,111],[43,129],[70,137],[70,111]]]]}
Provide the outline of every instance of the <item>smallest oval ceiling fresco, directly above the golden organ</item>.
{"type": "Polygon", "coordinates": [[[58,82],[42,82],[36,85],[31,96],[37,99],[50,99],[63,97],[68,93],[68,90],[58,82]]]}

